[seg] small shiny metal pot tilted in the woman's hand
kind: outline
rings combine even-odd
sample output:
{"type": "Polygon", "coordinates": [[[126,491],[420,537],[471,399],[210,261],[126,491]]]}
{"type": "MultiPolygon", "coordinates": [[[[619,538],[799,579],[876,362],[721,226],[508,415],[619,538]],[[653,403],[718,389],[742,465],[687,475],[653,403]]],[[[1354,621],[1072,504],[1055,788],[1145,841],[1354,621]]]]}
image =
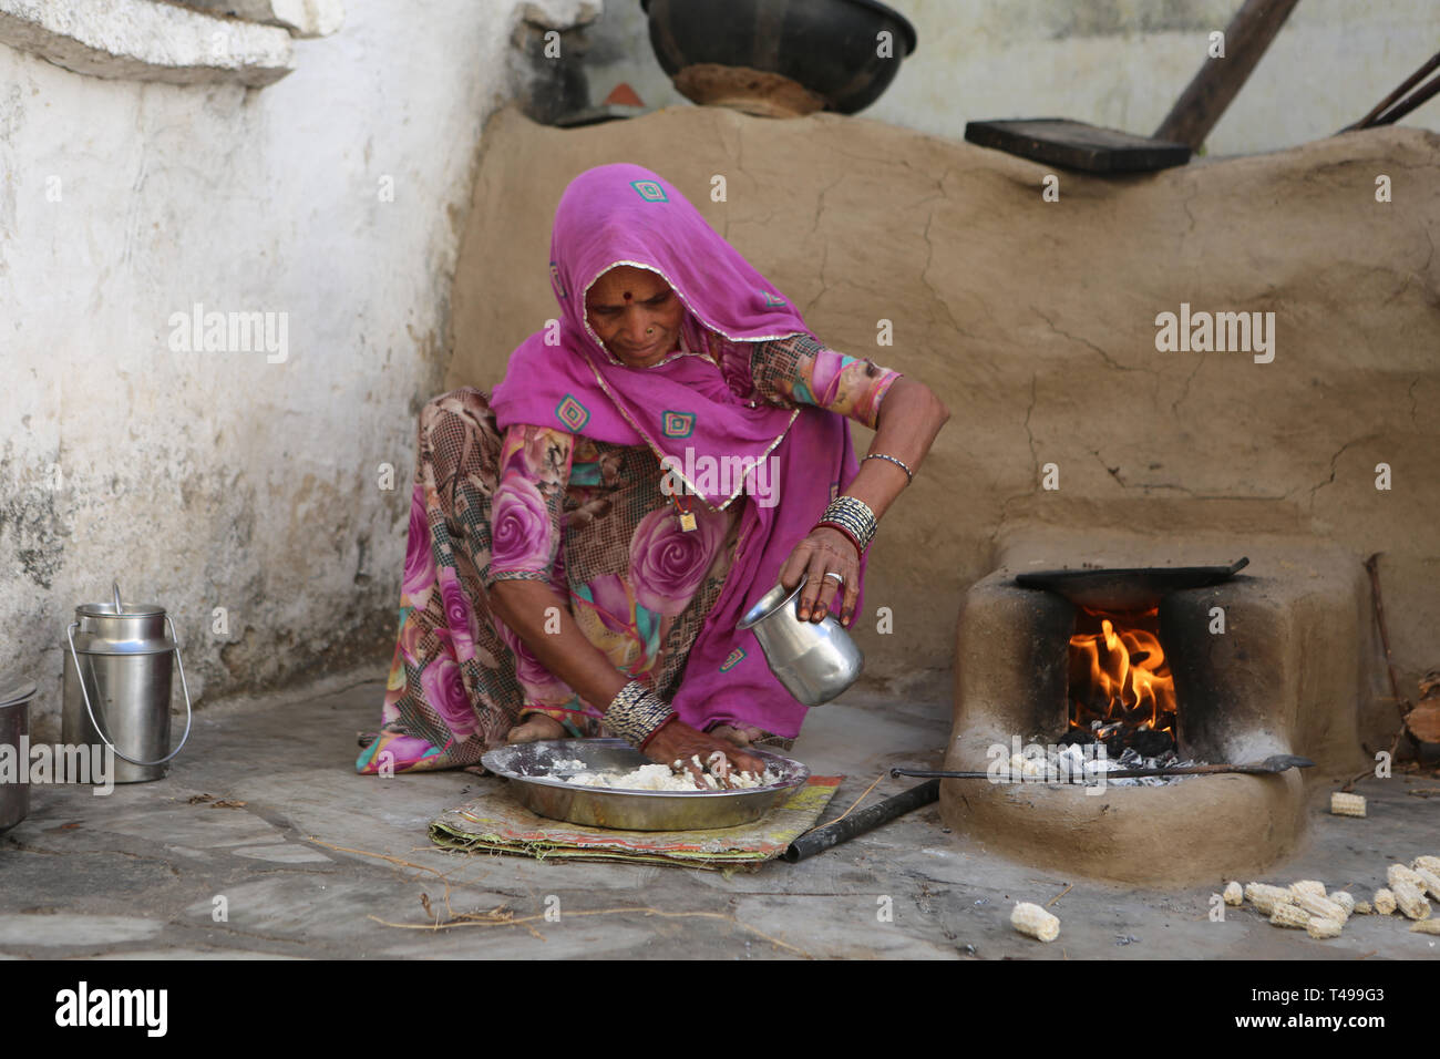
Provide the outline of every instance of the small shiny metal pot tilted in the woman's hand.
{"type": "Polygon", "coordinates": [[[736,628],[755,633],[786,692],[806,706],[819,706],[860,679],[865,657],[832,615],[801,621],[799,594],[806,579],[789,591],[783,585],[772,588],[736,628]]]}

